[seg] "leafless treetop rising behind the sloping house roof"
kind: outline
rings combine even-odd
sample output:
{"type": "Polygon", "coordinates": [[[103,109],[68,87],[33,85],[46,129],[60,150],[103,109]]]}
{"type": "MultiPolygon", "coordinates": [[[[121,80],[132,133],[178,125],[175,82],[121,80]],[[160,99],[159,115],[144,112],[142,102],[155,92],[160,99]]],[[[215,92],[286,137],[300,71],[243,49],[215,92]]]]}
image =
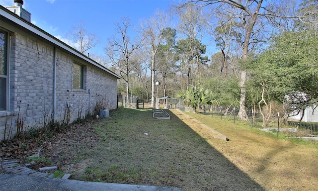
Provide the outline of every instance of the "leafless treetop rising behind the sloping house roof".
{"type": "Polygon", "coordinates": [[[87,33],[84,23],[79,22],[73,26],[71,31],[71,41],[74,44],[74,48],[85,54],[87,50],[96,46],[99,43],[99,39],[95,34],[87,33]]]}

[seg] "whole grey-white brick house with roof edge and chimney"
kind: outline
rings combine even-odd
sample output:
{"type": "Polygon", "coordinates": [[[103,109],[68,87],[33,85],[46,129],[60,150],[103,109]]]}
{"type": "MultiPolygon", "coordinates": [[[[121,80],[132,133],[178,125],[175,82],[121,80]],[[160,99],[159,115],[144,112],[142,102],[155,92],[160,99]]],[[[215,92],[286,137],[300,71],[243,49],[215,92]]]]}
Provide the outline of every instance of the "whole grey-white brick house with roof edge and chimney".
{"type": "Polygon", "coordinates": [[[115,109],[120,77],[33,25],[23,1],[14,2],[0,5],[0,141],[17,128],[115,109]]]}

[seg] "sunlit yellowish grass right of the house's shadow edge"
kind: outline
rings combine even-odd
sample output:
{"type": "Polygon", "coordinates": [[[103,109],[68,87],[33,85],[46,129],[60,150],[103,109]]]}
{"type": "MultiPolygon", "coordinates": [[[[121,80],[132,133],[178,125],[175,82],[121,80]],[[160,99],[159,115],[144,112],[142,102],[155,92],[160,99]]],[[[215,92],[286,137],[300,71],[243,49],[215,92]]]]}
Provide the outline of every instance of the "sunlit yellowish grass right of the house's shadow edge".
{"type": "Polygon", "coordinates": [[[314,191],[318,187],[318,150],[273,136],[242,129],[209,115],[182,115],[171,110],[206,139],[240,170],[268,191],[314,191]],[[204,121],[230,141],[212,139],[211,134],[191,118],[204,121]]]}

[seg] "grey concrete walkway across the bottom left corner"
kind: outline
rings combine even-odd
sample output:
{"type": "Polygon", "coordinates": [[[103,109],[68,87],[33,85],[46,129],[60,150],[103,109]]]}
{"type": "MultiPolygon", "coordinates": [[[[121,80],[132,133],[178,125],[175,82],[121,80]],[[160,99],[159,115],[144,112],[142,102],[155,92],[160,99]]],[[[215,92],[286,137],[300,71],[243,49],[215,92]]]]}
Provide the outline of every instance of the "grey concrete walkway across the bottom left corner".
{"type": "Polygon", "coordinates": [[[0,191],[182,191],[177,188],[84,182],[50,178],[14,160],[0,158],[0,191]],[[3,163],[2,163],[3,162],[3,163]]]}

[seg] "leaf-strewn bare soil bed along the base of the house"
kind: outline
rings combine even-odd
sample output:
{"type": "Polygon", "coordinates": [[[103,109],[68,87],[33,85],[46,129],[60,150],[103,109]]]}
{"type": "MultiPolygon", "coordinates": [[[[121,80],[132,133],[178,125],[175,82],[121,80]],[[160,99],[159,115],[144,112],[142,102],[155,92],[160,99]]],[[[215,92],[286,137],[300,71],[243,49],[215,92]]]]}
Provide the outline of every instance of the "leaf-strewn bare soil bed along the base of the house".
{"type": "Polygon", "coordinates": [[[1,142],[0,157],[18,159],[21,164],[30,163],[31,169],[57,166],[64,173],[85,174],[86,162],[82,160],[79,150],[93,148],[98,140],[98,134],[92,126],[96,121],[75,123],[61,133],[40,144],[33,140],[13,139],[1,142]],[[39,154],[39,158],[32,157],[39,154]],[[28,157],[32,157],[29,159],[28,157]]]}

